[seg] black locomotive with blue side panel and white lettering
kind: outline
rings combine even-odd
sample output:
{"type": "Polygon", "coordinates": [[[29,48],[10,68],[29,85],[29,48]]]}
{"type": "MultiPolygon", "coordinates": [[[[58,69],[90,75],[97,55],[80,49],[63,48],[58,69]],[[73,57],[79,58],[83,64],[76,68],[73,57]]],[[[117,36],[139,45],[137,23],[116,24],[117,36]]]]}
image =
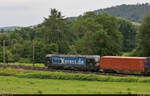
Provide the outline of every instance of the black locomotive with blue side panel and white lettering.
{"type": "Polygon", "coordinates": [[[84,71],[99,70],[100,56],[98,55],[46,55],[45,66],[59,69],[84,71]]]}

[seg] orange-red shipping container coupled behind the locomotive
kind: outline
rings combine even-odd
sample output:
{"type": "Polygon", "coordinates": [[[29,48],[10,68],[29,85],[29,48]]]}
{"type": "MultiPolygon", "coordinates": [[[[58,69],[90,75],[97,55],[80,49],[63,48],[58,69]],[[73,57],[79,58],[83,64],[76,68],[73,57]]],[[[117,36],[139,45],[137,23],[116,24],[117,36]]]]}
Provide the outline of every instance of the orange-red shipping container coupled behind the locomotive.
{"type": "Polygon", "coordinates": [[[103,56],[100,58],[101,69],[141,71],[146,68],[146,57],[103,56]]]}

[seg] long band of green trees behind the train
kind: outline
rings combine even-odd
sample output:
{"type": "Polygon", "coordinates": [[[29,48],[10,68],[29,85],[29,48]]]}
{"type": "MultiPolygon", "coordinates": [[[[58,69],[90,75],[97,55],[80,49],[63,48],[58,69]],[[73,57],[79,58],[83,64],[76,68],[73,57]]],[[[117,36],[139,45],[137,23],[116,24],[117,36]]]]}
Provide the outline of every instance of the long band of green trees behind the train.
{"type": "Polygon", "coordinates": [[[150,36],[149,18],[148,15],[141,26],[136,26],[105,13],[86,12],[72,20],[51,9],[41,24],[0,32],[0,62],[3,40],[6,62],[31,63],[33,40],[35,63],[44,63],[46,54],[121,56],[129,52],[129,56],[149,56],[149,45],[146,45],[150,36]]]}

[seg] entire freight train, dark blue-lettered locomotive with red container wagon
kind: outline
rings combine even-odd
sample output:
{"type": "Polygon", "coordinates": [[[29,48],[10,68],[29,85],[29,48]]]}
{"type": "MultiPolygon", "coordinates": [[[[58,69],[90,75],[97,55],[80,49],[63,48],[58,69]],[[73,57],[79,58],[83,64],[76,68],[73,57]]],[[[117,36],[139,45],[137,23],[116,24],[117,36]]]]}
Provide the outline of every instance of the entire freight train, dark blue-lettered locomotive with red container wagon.
{"type": "Polygon", "coordinates": [[[149,57],[46,55],[46,67],[83,71],[150,73],[149,57]]]}

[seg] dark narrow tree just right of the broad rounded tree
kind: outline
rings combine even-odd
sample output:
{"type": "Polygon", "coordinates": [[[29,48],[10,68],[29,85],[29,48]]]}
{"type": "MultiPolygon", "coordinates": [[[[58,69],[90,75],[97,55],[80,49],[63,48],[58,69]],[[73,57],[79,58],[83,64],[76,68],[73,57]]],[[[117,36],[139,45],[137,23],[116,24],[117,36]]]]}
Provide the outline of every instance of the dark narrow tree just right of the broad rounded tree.
{"type": "Polygon", "coordinates": [[[128,20],[119,19],[118,20],[119,31],[123,35],[123,52],[131,52],[133,49],[136,48],[136,35],[137,35],[137,28],[128,20]]]}

